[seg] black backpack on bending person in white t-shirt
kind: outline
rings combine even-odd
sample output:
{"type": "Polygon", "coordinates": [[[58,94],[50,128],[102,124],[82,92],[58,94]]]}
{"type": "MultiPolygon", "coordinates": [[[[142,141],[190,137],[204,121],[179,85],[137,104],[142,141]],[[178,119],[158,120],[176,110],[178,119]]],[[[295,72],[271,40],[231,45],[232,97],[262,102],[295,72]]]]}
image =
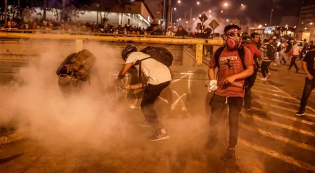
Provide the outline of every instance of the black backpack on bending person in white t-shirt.
{"type": "MultiPolygon", "coordinates": [[[[173,62],[173,56],[172,54],[165,48],[161,47],[152,47],[148,46],[140,52],[150,55],[149,58],[154,58],[155,60],[161,62],[162,64],[166,65],[167,67],[172,65],[173,62]]],[[[145,60],[147,58],[141,59],[141,61],[145,60]]]]}

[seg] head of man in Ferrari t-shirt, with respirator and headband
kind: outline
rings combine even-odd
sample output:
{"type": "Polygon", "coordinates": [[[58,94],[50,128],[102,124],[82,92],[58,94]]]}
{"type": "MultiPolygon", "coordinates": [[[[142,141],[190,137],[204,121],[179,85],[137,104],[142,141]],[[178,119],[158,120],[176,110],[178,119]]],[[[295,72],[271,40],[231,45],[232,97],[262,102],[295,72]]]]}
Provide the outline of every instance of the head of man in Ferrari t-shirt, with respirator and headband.
{"type": "Polygon", "coordinates": [[[241,28],[235,24],[227,25],[224,28],[223,39],[227,44],[228,50],[235,50],[241,45],[241,28]]]}

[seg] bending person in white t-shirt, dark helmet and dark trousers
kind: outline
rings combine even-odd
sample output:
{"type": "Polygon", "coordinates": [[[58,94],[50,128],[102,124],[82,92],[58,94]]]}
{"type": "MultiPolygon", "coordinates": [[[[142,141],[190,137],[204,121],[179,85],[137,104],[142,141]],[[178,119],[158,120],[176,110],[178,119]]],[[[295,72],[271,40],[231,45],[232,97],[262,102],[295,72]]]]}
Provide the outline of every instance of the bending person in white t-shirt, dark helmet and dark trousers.
{"type": "Polygon", "coordinates": [[[169,135],[159,121],[153,105],[161,91],[171,83],[172,77],[170,70],[166,65],[152,56],[138,52],[137,48],[131,44],[127,45],[123,50],[122,58],[125,61],[125,65],[119,72],[117,84],[121,84],[121,80],[125,77],[127,71],[134,66],[139,72],[141,82],[135,85],[125,85],[123,87],[126,90],[145,88],[140,106],[146,121],[138,125],[151,126],[154,128],[155,133],[149,138],[150,141],[168,139],[169,135]]]}

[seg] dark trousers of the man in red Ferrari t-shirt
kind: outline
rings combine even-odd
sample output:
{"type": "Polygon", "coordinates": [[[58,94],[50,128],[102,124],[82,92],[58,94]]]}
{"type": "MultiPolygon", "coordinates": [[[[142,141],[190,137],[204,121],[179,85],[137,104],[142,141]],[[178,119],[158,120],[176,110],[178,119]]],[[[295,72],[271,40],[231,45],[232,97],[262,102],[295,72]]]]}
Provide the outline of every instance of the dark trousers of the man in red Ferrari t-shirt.
{"type": "MultiPolygon", "coordinates": [[[[211,119],[210,119],[210,141],[216,141],[218,136],[218,122],[223,115],[222,112],[226,106],[226,97],[214,94],[210,101],[211,119]]],[[[230,127],[229,146],[234,147],[238,137],[238,118],[243,107],[242,97],[227,97],[229,107],[228,122],[230,127]]]]}

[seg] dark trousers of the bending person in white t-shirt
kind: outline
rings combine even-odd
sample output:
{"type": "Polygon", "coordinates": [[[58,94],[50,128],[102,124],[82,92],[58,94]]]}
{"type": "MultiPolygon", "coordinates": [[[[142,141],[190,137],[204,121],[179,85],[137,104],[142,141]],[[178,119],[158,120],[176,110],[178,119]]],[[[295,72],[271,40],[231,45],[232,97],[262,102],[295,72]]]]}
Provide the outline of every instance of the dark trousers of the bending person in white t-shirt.
{"type": "Polygon", "coordinates": [[[154,102],[157,100],[158,95],[162,92],[162,90],[167,87],[171,81],[167,81],[158,85],[148,84],[144,89],[143,98],[141,101],[141,111],[146,118],[147,122],[155,129],[161,130],[163,126],[161,122],[158,120],[158,115],[154,110],[154,102]]]}

